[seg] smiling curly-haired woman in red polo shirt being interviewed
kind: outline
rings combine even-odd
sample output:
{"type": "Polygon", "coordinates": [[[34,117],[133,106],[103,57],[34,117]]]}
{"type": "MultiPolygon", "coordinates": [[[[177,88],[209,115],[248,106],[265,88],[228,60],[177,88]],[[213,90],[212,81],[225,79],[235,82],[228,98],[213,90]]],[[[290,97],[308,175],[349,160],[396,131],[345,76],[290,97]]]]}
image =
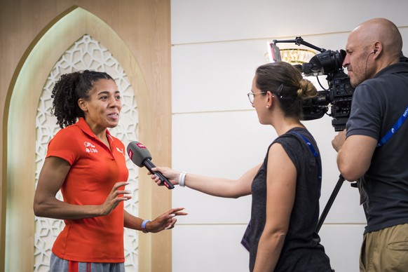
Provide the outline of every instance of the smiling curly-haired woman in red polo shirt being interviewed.
{"type": "Polygon", "coordinates": [[[52,97],[63,129],[48,144],[34,196],[36,216],[65,222],[50,271],[124,271],[123,227],[156,233],[186,213],[174,208],[150,222],[124,210],[125,147],[107,130],[118,125],[121,94],[109,74],[64,74],[52,97]],[[64,201],[55,198],[60,190],[64,201]]]}

